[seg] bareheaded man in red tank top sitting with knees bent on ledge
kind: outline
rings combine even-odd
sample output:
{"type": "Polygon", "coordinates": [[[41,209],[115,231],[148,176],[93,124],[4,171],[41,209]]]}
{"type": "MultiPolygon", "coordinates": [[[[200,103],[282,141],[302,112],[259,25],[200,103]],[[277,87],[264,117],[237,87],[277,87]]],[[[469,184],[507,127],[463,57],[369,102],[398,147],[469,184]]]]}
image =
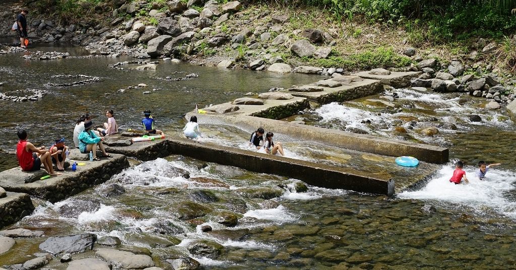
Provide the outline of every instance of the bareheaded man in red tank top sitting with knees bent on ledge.
{"type": "Polygon", "coordinates": [[[55,172],[52,167],[52,160],[50,158],[49,150],[45,147],[36,148],[33,144],[27,141],[27,132],[25,130],[18,131],[18,145],[16,148],[16,156],[18,163],[24,171],[36,171],[41,169],[41,162],[45,166],[45,170],[51,176],[58,176],[61,173],[55,172]]]}

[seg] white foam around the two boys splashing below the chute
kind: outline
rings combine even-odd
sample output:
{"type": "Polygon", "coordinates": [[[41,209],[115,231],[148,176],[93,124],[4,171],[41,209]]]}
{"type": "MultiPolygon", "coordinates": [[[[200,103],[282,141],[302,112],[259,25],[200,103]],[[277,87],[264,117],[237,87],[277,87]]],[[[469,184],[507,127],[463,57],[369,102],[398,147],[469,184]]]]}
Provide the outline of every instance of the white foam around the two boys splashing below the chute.
{"type": "MultiPolygon", "coordinates": [[[[402,199],[437,200],[440,202],[462,205],[482,213],[488,209],[516,220],[516,201],[507,198],[506,192],[515,189],[516,173],[492,168],[487,178],[480,181],[475,177],[475,167],[465,167],[470,184],[455,185],[449,182],[454,167],[445,165],[438,171],[438,176],[421,190],[406,191],[397,195],[402,199]]],[[[514,192],[514,191],[512,191],[514,192]]]]}

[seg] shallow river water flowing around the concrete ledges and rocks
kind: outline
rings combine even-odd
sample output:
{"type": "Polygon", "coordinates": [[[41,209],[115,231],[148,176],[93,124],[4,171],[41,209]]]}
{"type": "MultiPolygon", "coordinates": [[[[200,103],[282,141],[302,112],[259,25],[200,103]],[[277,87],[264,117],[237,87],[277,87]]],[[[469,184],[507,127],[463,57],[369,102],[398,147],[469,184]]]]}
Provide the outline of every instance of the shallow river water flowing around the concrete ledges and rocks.
{"type": "MultiPolygon", "coordinates": [[[[70,47],[43,49],[71,51],[70,47]]],[[[172,63],[159,63],[156,71],[119,70],[107,65],[123,59],[75,57],[81,54],[77,50],[74,57],[50,61],[26,60],[20,54],[0,55],[0,81],[5,82],[0,92],[25,88],[50,92],[35,102],[0,101],[0,135],[4,138],[0,148],[14,149],[18,128],[28,129],[32,141],[45,145],[58,135],[71,141],[79,114],[102,116],[108,108],[115,110],[122,129],[137,128],[141,112],[149,108],[160,120],[160,128],[179,133],[183,114],[195,103],[221,103],[249,91],[317,80],[300,74],[285,77],[172,63]],[[156,78],[190,73],[199,77],[186,81],[156,78]],[[59,74],[99,77],[101,82],[67,88],[49,86],[75,80],[52,77],[59,74]],[[117,92],[139,83],[149,86],[117,92]],[[143,95],[143,91],[151,93],[143,95]]],[[[34,214],[9,228],[43,230],[46,236],[78,232],[117,236],[124,249],[149,250],[164,267],[169,267],[162,263],[166,259],[189,256],[206,269],[516,268],[512,121],[501,111],[480,108],[480,99],[414,89],[388,91],[393,92],[399,97],[394,103],[403,108],[401,112],[365,105],[362,99],[324,105],[314,111],[315,115],[292,119],[448,147],[451,158],[466,162],[471,184],[448,182],[453,172],[451,163],[422,164],[422,170],[436,173],[394,198],[313,186],[301,192],[302,185],[295,179],[172,155],[144,163],[133,161],[131,168],[106,183],[55,204],[35,198],[34,214]],[[478,114],[483,121],[472,123],[469,114],[478,114]],[[422,135],[421,130],[430,125],[440,126],[439,133],[422,135]],[[480,182],[473,180],[474,165],[480,159],[503,165],[492,168],[488,179],[480,182]],[[125,192],[111,194],[109,190],[115,184],[123,186],[125,192]],[[236,216],[238,224],[219,224],[223,216],[236,216]],[[201,228],[206,225],[213,231],[203,232],[201,228]],[[221,245],[220,255],[191,255],[188,247],[200,239],[221,245]]],[[[95,123],[103,121],[103,117],[94,119],[95,123]]],[[[201,129],[206,135],[203,140],[246,148],[246,131],[217,125],[201,129]]],[[[307,146],[281,134],[275,139],[284,141],[287,156],[293,158],[389,173],[397,183],[409,177],[392,165],[389,157],[307,146]]],[[[12,155],[0,156],[2,169],[14,166],[12,155]]],[[[0,256],[0,265],[26,261],[45,239],[18,239],[12,251],[0,256]]],[[[86,252],[73,258],[93,256],[86,252]]],[[[49,267],[65,269],[66,264],[54,260],[49,267]]]]}

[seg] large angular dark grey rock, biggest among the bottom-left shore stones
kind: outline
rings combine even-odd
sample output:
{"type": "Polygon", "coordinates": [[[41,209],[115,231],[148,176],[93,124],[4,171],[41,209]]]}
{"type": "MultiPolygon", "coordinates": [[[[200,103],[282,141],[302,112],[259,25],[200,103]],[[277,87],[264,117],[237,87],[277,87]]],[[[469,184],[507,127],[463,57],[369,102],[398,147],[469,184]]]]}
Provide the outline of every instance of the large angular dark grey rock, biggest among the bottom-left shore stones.
{"type": "Polygon", "coordinates": [[[69,236],[49,237],[39,245],[41,250],[60,256],[64,253],[79,253],[93,249],[96,235],[92,233],[81,233],[69,236]]]}

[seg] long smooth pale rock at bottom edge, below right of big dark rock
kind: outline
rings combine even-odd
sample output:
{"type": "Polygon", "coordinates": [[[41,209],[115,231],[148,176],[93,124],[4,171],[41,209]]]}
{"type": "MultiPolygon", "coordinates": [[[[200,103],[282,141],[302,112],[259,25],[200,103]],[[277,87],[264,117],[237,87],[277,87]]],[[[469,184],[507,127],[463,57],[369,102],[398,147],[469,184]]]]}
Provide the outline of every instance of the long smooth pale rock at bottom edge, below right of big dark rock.
{"type": "Polygon", "coordinates": [[[126,269],[141,269],[154,266],[152,258],[143,254],[135,255],[132,252],[109,248],[99,248],[95,254],[111,264],[126,269]]]}

